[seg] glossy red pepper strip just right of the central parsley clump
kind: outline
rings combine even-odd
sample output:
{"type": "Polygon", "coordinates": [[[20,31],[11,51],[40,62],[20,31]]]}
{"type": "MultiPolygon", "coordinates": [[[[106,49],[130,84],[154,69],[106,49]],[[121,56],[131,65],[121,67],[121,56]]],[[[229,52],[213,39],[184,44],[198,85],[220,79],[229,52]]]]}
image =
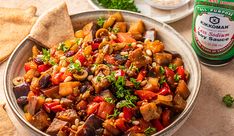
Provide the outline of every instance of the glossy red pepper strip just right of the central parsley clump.
{"type": "Polygon", "coordinates": [[[156,93],[147,90],[137,90],[135,91],[135,94],[142,100],[152,100],[153,98],[157,97],[156,93]]]}

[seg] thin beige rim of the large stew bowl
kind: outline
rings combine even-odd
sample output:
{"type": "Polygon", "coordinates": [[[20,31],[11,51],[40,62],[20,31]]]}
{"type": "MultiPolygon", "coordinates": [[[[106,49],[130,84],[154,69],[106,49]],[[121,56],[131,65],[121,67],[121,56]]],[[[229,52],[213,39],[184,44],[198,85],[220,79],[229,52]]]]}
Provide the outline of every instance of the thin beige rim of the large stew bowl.
{"type": "MultiPolygon", "coordinates": [[[[75,18],[76,16],[82,16],[82,15],[85,15],[85,14],[92,14],[92,13],[95,13],[95,12],[99,12],[100,14],[102,14],[102,12],[106,12],[107,14],[110,13],[110,12],[122,12],[122,13],[129,14],[129,15],[132,15],[132,16],[141,17],[143,21],[144,20],[151,20],[151,22],[160,23],[163,26],[166,26],[170,30],[171,33],[173,33],[175,36],[177,36],[178,39],[180,39],[187,46],[187,48],[190,50],[190,52],[192,53],[192,57],[194,59],[193,61],[194,61],[195,65],[198,68],[197,69],[197,72],[198,72],[198,75],[197,75],[198,82],[197,82],[197,86],[195,86],[195,89],[194,89],[194,91],[195,91],[194,92],[194,96],[191,98],[191,102],[187,103],[187,108],[184,109],[184,111],[179,115],[179,117],[177,117],[169,126],[167,126],[166,128],[164,128],[162,131],[159,131],[159,132],[157,132],[157,133],[155,133],[153,135],[156,136],[156,135],[165,135],[165,134],[167,134],[168,130],[173,130],[173,128],[175,128],[184,119],[186,119],[186,117],[193,110],[195,102],[196,102],[196,99],[198,97],[198,93],[199,93],[200,85],[201,85],[201,65],[199,63],[199,60],[198,60],[198,57],[196,56],[195,51],[192,49],[192,47],[190,46],[190,44],[188,43],[188,41],[185,40],[185,38],[182,37],[174,28],[172,28],[171,26],[169,26],[166,23],[163,23],[163,22],[161,22],[161,21],[159,21],[157,19],[154,19],[154,18],[145,16],[145,15],[142,15],[140,13],[135,13],[135,12],[131,12],[131,11],[124,11],[124,10],[100,9],[100,10],[88,10],[88,11],[84,11],[84,12],[79,12],[77,14],[70,15],[70,17],[72,19],[72,18],[75,18]]],[[[11,98],[10,98],[10,95],[9,95],[9,91],[12,91],[12,90],[8,90],[8,87],[7,87],[7,75],[9,73],[8,70],[9,70],[9,67],[11,66],[11,62],[17,56],[17,52],[19,52],[19,50],[21,48],[24,48],[24,46],[20,46],[20,45],[22,45],[22,44],[25,45],[24,43],[27,42],[28,40],[30,40],[30,38],[29,38],[29,36],[26,36],[19,43],[19,45],[16,47],[16,49],[13,51],[13,53],[9,57],[9,60],[7,62],[7,66],[5,67],[5,71],[4,71],[4,79],[3,79],[4,94],[5,94],[7,103],[9,104],[10,109],[13,111],[13,113],[16,115],[16,118],[19,120],[19,122],[23,126],[26,126],[27,128],[29,128],[30,132],[37,132],[37,134],[48,136],[48,134],[46,134],[45,132],[37,129],[32,124],[30,124],[28,121],[26,121],[26,119],[23,116],[21,116],[19,112],[17,112],[17,109],[13,105],[13,102],[11,101],[11,98]]]]}

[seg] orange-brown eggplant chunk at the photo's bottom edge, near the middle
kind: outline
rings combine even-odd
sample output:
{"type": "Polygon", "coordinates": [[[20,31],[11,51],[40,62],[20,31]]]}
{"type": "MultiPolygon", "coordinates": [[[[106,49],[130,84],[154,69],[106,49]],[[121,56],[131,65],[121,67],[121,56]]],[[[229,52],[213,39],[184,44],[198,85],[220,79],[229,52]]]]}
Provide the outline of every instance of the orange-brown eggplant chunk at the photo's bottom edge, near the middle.
{"type": "Polygon", "coordinates": [[[105,120],[103,127],[114,136],[118,136],[121,133],[121,131],[116,126],[114,126],[113,119],[105,120]]]}

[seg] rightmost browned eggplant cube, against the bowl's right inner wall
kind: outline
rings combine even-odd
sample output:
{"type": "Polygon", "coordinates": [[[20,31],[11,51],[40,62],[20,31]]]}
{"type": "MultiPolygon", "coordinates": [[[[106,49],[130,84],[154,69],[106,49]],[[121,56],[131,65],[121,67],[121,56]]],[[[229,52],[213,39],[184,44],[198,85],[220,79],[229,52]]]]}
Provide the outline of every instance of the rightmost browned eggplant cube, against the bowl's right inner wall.
{"type": "Polygon", "coordinates": [[[190,91],[184,80],[179,81],[175,93],[178,93],[184,100],[188,98],[188,96],[190,95],[190,91]]]}

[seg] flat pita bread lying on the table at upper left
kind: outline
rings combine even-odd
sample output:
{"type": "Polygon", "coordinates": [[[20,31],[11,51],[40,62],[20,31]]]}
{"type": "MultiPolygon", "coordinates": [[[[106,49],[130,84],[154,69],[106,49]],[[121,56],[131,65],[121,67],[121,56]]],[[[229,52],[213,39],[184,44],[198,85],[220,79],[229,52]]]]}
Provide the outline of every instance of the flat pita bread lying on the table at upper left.
{"type": "Polygon", "coordinates": [[[28,9],[0,8],[0,62],[29,34],[36,22],[36,7],[28,9]]]}

